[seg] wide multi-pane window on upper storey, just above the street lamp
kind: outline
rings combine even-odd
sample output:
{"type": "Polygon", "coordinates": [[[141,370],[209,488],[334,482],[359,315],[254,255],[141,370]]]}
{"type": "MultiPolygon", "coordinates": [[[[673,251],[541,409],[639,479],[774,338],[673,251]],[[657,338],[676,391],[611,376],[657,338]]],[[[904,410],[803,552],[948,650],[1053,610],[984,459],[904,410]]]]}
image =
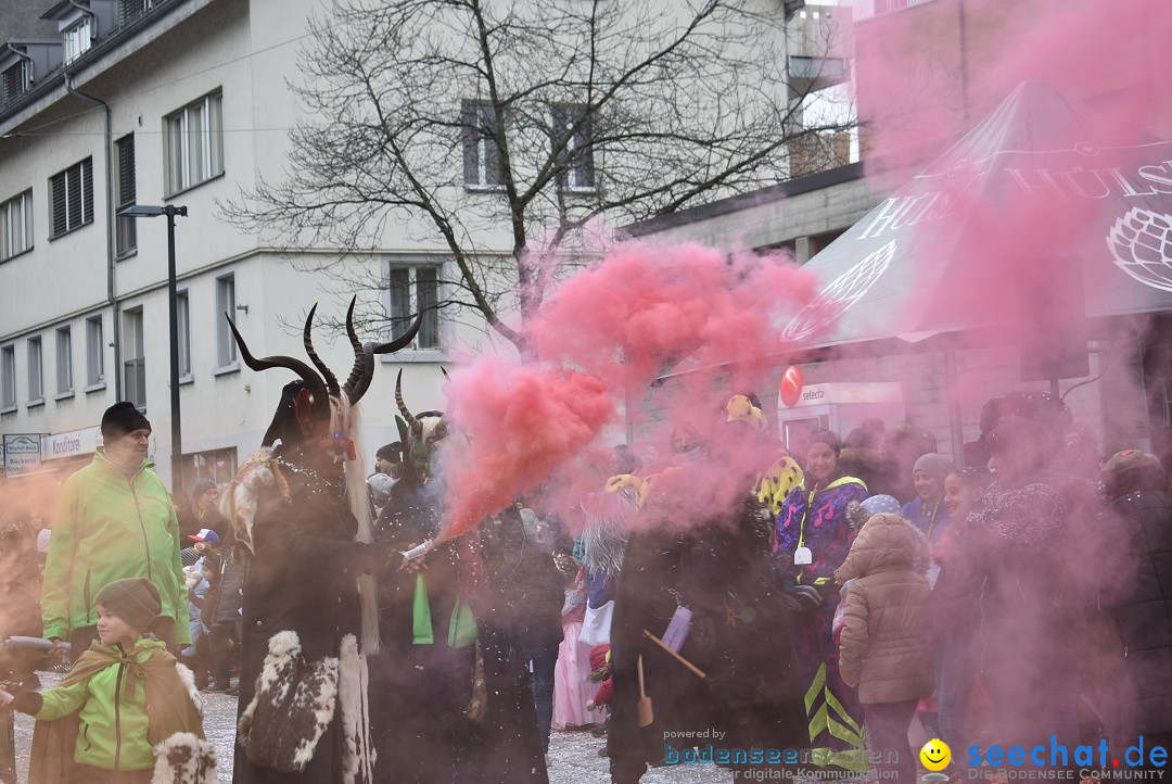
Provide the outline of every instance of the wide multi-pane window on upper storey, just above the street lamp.
{"type": "Polygon", "coordinates": [[[168,192],[224,173],[224,96],[212,93],[165,120],[168,192]]]}

